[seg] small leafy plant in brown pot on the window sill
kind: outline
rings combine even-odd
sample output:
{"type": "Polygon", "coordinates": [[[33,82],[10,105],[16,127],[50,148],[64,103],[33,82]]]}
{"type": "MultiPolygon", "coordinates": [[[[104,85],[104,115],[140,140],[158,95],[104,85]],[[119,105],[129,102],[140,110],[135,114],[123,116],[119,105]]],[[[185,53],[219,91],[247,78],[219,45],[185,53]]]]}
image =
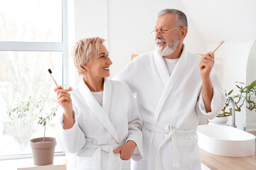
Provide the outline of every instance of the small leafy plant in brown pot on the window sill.
{"type": "Polygon", "coordinates": [[[33,103],[38,114],[38,125],[44,128],[43,137],[30,140],[33,153],[33,162],[36,165],[53,164],[53,156],[56,145],[54,137],[46,137],[46,125],[50,123],[56,115],[57,107],[46,108],[46,100],[42,99],[33,103]]]}

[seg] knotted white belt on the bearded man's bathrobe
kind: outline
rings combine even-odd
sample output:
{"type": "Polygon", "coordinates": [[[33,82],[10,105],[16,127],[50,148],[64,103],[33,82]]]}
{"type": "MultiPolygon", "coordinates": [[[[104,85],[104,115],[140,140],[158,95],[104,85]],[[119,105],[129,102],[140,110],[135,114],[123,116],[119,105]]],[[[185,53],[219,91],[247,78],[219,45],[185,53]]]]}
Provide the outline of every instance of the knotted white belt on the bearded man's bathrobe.
{"type": "Polygon", "coordinates": [[[161,147],[163,147],[168,140],[171,139],[171,159],[172,159],[172,166],[175,168],[180,167],[180,159],[179,159],[179,152],[178,152],[178,141],[176,135],[187,135],[193,132],[196,132],[196,128],[192,130],[175,130],[171,127],[171,125],[165,125],[164,130],[161,130],[149,123],[143,122],[143,128],[151,130],[152,132],[162,133],[164,134],[164,140],[161,142],[159,149],[157,150],[156,154],[156,169],[161,168],[161,147]]]}

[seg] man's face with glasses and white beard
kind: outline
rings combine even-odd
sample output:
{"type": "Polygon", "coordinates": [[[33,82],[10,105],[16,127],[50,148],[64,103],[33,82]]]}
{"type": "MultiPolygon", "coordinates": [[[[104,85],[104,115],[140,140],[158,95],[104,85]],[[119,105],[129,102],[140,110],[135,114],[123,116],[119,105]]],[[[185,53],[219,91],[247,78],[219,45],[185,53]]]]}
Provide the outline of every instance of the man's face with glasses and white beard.
{"type": "Polygon", "coordinates": [[[159,53],[159,55],[171,55],[171,53],[176,50],[176,47],[180,42],[178,38],[179,28],[179,26],[176,26],[175,14],[167,13],[157,18],[155,26],[156,31],[167,31],[173,29],[167,33],[156,33],[156,51],[159,53]]]}

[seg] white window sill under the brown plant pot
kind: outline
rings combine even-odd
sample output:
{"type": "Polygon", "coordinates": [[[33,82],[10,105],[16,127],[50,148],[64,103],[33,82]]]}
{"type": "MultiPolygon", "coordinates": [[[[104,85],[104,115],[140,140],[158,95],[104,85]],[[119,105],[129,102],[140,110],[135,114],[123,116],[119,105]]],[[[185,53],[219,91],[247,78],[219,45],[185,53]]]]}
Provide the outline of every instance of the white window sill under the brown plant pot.
{"type": "Polygon", "coordinates": [[[55,156],[53,164],[37,166],[33,158],[0,161],[0,169],[4,170],[65,170],[65,156],[55,156]]]}

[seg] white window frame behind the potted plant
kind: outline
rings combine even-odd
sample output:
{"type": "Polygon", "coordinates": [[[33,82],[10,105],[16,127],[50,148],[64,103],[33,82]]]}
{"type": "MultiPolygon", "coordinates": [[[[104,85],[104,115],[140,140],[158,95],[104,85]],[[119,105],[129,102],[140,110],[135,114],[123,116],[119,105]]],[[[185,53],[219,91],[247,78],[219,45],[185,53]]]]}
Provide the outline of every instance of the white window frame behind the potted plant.
{"type": "MultiPolygon", "coordinates": [[[[0,51],[38,51],[38,52],[63,52],[63,82],[68,86],[68,3],[62,0],[62,42],[12,42],[0,41],[0,51]]],[[[56,156],[64,155],[63,152],[55,153],[56,156]]],[[[24,159],[32,154],[10,155],[0,157],[0,160],[24,159]]]]}

